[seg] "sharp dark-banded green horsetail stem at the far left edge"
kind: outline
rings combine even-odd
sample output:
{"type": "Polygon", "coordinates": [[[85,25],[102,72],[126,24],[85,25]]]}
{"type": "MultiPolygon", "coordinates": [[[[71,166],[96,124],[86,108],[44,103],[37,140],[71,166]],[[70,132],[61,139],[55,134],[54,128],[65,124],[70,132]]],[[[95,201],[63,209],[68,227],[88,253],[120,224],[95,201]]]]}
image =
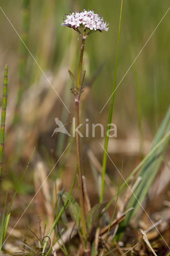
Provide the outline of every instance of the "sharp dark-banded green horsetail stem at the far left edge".
{"type": "Polygon", "coordinates": [[[5,66],[4,72],[4,86],[2,96],[2,113],[0,124],[0,182],[2,179],[2,165],[3,165],[3,152],[4,152],[4,132],[5,132],[5,118],[6,118],[6,104],[7,104],[7,83],[8,83],[8,66],[5,66]]]}

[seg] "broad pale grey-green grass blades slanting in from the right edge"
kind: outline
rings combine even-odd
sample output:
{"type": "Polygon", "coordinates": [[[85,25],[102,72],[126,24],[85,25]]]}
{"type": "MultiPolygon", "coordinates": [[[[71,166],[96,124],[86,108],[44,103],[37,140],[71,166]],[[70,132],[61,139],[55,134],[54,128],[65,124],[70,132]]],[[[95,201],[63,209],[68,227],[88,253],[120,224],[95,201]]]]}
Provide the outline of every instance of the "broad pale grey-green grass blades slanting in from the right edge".
{"type": "MultiPolygon", "coordinates": [[[[166,136],[168,135],[168,137],[170,136],[170,107],[168,108],[166,116],[164,117],[164,120],[162,121],[162,124],[160,125],[160,128],[156,133],[151,149],[155,148],[155,146],[159,144],[160,140],[165,134],[166,136]]],[[[150,154],[149,158],[147,158],[142,168],[138,172],[138,175],[136,176],[136,178],[140,176],[142,177],[142,179],[138,184],[137,188],[134,190],[135,196],[132,196],[130,198],[130,201],[127,206],[127,208],[133,207],[134,210],[132,212],[129,212],[125,220],[121,222],[120,230],[121,228],[125,228],[130,222],[130,220],[134,218],[138,208],[140,207],[140,204],[142,204],[144,198],[146,198],[148,190],[156,174],[158,173],[158,170],[160,168],[160,164],[162,163],[162,159],[164,158],[164,152],[167,146],[168,146],[168,138],[167,140],[164,140],[163,143],[160,144],[160,146],[157,147],[156,150],[154,150],[154,152],[152,152],[152,154],[150,154]]],[[[118,233],[119,233],[119,229],[118,229],[118,233]]]]}

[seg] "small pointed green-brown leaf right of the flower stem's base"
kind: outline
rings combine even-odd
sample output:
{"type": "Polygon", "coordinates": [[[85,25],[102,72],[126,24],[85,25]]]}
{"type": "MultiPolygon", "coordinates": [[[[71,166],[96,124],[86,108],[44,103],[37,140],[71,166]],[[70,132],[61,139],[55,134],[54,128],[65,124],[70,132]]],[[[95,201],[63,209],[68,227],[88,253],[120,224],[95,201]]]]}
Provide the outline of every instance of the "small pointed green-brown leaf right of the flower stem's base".
{"type": "Polygon", "coordinates": [[[101,211],[105,208],[107,201],[100,202],[91,208],[87,214],[87,228],[90,231],[95,221],[99,218],[101,211]]]}

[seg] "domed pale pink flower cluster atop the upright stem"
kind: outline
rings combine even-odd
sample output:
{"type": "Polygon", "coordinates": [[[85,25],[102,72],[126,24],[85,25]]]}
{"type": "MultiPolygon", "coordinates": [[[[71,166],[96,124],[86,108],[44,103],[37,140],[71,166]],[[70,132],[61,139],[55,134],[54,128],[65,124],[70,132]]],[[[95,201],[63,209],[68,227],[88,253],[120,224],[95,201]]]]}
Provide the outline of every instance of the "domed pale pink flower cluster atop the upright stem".
{"type": "Polygon", "coordinates": [[[103,21],[103,18],[101,18],[100,15],[95,14],[93,11],[86,11],[83,10],[82,12],[73,12],[69,15],[65,14],[66,19],[64,18],[64,22],[61,23],[62,26],[68,26],[70,28],[87,28],[90,30],[105,30],[107,31],[109,28],[107,26],[106,22],[103,21]]]}

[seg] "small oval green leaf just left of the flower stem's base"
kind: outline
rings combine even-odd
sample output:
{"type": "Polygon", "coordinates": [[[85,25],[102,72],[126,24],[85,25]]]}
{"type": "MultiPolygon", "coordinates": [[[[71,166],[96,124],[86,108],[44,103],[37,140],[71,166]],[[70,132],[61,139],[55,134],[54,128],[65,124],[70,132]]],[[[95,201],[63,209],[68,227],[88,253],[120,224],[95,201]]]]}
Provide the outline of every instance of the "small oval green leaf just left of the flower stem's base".
{"type": "MultiPolygon", "coordinates": [[[[61,195],[61,198],[63,200],[63,202],[65,203],[65,201],[67,200],[68,197],[68,193],[63,192],[63,194],[61,195]]],[[[80,226],[80,208],[79,205],[77,204],[77,202],[74,200],[74,198],[72,196],[70,196],[69,198],[69,202],[68,202],[68,211],[71,215],[71,218],[73,220],[75,220],[77,227],[80,226]]]]}

